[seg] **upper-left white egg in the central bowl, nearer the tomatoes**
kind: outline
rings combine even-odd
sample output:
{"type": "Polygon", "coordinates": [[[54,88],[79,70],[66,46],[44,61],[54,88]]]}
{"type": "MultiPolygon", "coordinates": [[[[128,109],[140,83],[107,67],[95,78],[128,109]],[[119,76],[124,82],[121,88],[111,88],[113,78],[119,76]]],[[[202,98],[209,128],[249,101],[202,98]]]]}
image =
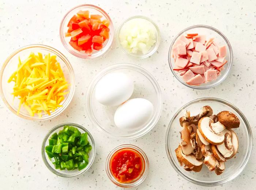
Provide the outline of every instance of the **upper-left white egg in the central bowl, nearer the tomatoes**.
{"type": "Polygon", "coordinates": [[[133,90],[133,81],[126,74],[109,73],[97,83],[95,98],[103,105],[116,106],[128,100],[133,90]]]}

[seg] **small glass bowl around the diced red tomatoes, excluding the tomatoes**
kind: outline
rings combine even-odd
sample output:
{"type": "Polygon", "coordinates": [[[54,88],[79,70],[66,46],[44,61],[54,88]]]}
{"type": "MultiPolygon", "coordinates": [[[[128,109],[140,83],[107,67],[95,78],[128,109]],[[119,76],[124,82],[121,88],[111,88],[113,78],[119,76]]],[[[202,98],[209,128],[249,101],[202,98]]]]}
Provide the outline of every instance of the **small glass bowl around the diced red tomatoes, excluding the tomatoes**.
{"type": "Polygon", "coordinates": [[[95,6],[95,5],[89,5],[89,4],[84,4],[84,5],[78,5],[74,8],[72,8],[70,11],[67,12],[67,14],[64,16],[64,18],[61,21],[60,24],[60,39],[61,42],[63,44],[63,46],[69,51],[69,53],[75,55],[76,57],[79,58],[96,58],[99,57],[103,54],[105,54],[106,52],[108,52],[108,50],[110,50],[110,47],[112,45],[113,39],[114,39],[114,27],[113,27],[113,23],[112,20],[110,19],[108,13],[106,13],[103,9],[95,6]],[[72,18],[72,16],[76,15],[76,13],[78,11],[90,11],[90,14],[97,14],[97,15],[101,15],[102,18],[101,20],[109,20],[110,24],[109,24],[109,39],[107,39],[104,43],[103,43],[103,48],[99,51],[97,50],[93,50],[93,53],[91,55],[87,55],[86,53],[84,53],[84,51],[77,51],[75,50],[68,42],[70,40],[71,37],[65,37],[65,32],[68,31],[68,22],[69,20],[72,18]]]}

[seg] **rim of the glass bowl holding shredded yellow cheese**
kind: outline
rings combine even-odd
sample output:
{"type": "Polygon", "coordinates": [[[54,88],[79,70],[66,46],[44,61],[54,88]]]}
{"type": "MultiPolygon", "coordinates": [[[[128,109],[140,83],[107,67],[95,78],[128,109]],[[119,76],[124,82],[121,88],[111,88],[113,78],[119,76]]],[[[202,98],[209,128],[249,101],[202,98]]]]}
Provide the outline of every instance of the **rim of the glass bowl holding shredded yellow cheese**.
{"type": "Polygon", "coordinates": [[[19,116],[23,119],[28,119],[28,120],[33,120],[33,121],[44,121],[44,120],[48,120],[48,119],[52,119],[58,115],[60,115],[60,113],[62,113],[67,106],[70,104],[74,94],[75,94],[75,73],[73,70],[73,67],[71,65],[71,63],[68,61],[68,59],[65,57],[64,54],[62,54],[59,50],[54,49],[53,47],[50,46],[46,46],[43,44],[30,44],[27,46],[23,46],[20,47],[19,49],[15,50],[14,52],[12,52],[4,61],[3,65],[1,66],[1,70],[0,70],[0,84],[2,84],[3,81],[3,73],[5,70],[5,67],[8,65],[8,63],[10,62],[10,60],[17,54],[19,54],[20,52],[22,52],[23,50],[27,50],[27,49],[34,49],[34,48],[41,48],[44,49],[46,51],[50,51],[53,52],[55,55],[57,55],[64,63],[65,65],[68,67],[69,70],[69,74],[70,74],[70,78],[72,78],[73,84],[71,84],[68,96],[67,96],[67,100],[65,101],[65,105],[63,105],[62,107],[60,107],[59,109],[56,109],[53,113],[51,113],[51,115],[46,116],[46,117],[31,117],[31,116],[25,116],[21,113],[19,113],[19,115],[17,115],[17,112],[12,108],[12,106],[8,103],[7,99],[4,96],[3,93],[3,85],[0,85],[0,96],[4,102],[4,104],[8,107],[9,110],[11,110],[12,113],[14,113],[16,116],[19,116]]]}

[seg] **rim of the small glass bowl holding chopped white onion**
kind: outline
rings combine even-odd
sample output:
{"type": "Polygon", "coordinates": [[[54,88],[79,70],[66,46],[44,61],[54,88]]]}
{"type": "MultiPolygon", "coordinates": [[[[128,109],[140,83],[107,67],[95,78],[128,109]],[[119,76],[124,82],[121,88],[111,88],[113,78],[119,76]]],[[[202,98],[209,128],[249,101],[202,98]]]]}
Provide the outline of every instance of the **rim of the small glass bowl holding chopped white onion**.
{"type": "Polygon", "coordinates": [[[125,54],[130,55],[130,56],[135,57],[135,58],[144,59],[144,58],[150,57],[151,55],[153,55],[153,54],[157,51],[157,49],[158,49],[158,47],[159,47],[159,45],[160,45],[160,42],[161,42],[161,35],[160,35],[159,27],[157,26],[157,24],[156,24],[152,19],[150,19],[150,18],[147,17],[147,16],[143,16],[143,15],[134,15],[134,16],[130,16],[129,18],[125,19],[125,20],[120,24],[120,26],[118,27],[118,30],[117,30],[117,41],[118,41],[119,46],[121,47],[121,50],[122,50],[125,54]],[[150,23],[153,24],[153,26],[154,26],[155,29],[157,30],[157,39],[158,39],[158,40],[157,40],[157,42],[153,45],[154,48],[153,48],[151,51],[149,51],[147,54],[145,54],[145,55],[135,55],[135,54],[132,54],[132,53],[127,52],[127,51],[123,48],[123,46],[121,45],[120,38],[119,38],[120,31],[121,31],[122,27],[124,26],[124,24],[125,24],[126,22],[128,22],[129,20],[136,19],[136,18],[145,19],[145,20],[149,21],[150,23]]]}

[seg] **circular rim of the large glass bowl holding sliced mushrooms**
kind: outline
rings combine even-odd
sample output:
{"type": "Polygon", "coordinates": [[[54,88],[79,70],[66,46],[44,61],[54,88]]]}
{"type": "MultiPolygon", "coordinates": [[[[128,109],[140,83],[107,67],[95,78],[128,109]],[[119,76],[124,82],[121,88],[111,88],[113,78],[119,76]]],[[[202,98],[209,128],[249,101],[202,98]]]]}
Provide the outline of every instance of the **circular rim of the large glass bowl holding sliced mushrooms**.
{"type": "Polygon", "coordinates": [[[230,182],[231,180],[233,180],[234,178],[236,178],[239,174],[241,174],[241,172],[244,170],[246,164],[248,163],[249,161],[249,157],[251,155],[251,152],[252,152],[252,129],[250,127],[250,124],[248,122],[248,120],[246,119],[245,115],[236,107],[234,106],[233,104],[231,104],[230,102],[226,101],[226,100],[222,100],[220,98],[213,98],[213,97],[205,97],[205,98],[198,98],[196,100],[192,100],[190,102],[188,102],[187,104],[183,105],[180,109],[177,110],[177,112],[173,115],[172,119],[170,120],[170,123],[168,125],[168,128],[167,128],[167,131],[166,131],[166,136],[165,136],[165,150],[166,150],[166,154],[167,154],[167,157],[169,159],[169,162],[171,163],[172,167],[174,168],[174,170],[184,179],[186,179],[187,181],[191,182],[191,183],[194,183],[196,185],[200,185],[200,186],[218,186],[218,185],[221,185],[223,183],[226,183],[226,182],[230,182]],[[187,106],[190,106],[194,103],[197,103],[197,102],[200,102],[200,101],[215,101],[215,102],[220,102],[222,104],[225,104],[227,106],[229,106],[230,108],[234,109],[239,115],[240,117],[242,118],[242,120],[244,121],[245,123],[245,127],[246,127],[246,130],[248,132],[248,135],[249,135],[249,149],[248,149],[248,152],[247,152],[247,155],[246,156],[246,159],[244,161],[244,163],[242,164],[240,170],[236,173],[236,174],[232,174],[231,176],[229,176],[227,179],[224,179],[224,180],[221,180],[219,182],[209,182],[209,183],[206,183],[206,182],[198,182],[198,181],[195,181],[193,179],[190,179],[189,177],[185,176],[184,174],[182,174],[182,172],[180,171],[180,168],[177,168],[176,165],[174,164],[174,161],[172,157],[172,154],[171,152],[169,151],[169,136],[170,136],[170,129],[171,129],[171,126],[172,126],[172,123],[173,121],[176,119],[176,117],[178,116],[178,114],[180,114],[180,112],[182,110],[184,110],[185,107],[187,106]]]}

